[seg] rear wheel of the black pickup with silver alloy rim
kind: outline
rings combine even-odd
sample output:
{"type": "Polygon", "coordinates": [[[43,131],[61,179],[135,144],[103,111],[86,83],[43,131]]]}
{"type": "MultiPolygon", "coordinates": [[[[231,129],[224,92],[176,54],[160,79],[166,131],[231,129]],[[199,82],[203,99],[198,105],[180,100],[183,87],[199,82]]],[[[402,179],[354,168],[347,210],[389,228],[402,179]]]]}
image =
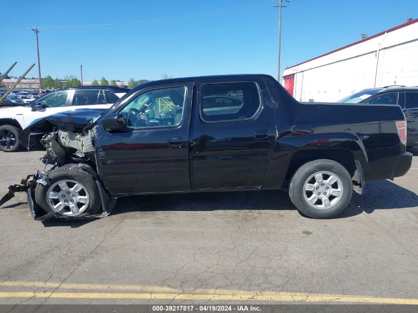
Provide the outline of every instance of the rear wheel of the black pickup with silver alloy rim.
{"type": "Polygon", "coordinates": [[[340,214],[352,195],[350,174],[341,164],[331,160],[315,160],[302,165],[289,186],[290,200],[298,211],[314,219],[340,214]]]}

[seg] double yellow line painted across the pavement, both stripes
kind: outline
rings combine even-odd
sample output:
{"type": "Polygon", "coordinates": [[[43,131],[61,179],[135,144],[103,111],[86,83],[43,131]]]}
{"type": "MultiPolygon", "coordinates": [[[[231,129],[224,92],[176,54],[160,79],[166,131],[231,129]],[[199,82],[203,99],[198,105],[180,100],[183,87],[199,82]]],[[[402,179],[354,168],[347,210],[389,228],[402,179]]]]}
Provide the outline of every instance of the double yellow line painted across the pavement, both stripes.
{"type": "Polygon", "coordinates": [[[297,292],[246,291],[228,289],[190,289],[180,290],[170,287],[118,285],[118,284],[82,284],[29,281],[2,281],[0,287],[83,289],[86,292],[0,292],[0,298],[71,298],[71,299],[159,299],[172,300],[239,300],[274,302],[330,302],[330,303],[373,303],[418,305],[418,299],[379,298],[354,295],[331,295],[297,292]],[[97,292],[110,290],[112,292],[97,292]],[[121,291],[137,291],[135,293],[121,291]],[[92,292],[93,291],[93,292],[92,292]]]}

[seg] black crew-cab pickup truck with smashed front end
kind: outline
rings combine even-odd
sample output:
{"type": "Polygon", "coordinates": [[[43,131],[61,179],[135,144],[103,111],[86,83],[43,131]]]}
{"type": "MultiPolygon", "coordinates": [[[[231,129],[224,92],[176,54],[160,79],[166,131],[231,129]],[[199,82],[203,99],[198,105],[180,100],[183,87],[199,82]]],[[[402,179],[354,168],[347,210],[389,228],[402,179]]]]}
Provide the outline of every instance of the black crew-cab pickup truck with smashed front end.
{"type": "Polygon", "coordinates": [[[399,106],[302,104],[268,75],[149,82],[82,131],[60,121],[41,140],[52,170],[0,201],[27,191],[36,219],[103,217],[128,195],[280,188],[304,215],[330,218],[353,189],[412,163],[399,106]]]}

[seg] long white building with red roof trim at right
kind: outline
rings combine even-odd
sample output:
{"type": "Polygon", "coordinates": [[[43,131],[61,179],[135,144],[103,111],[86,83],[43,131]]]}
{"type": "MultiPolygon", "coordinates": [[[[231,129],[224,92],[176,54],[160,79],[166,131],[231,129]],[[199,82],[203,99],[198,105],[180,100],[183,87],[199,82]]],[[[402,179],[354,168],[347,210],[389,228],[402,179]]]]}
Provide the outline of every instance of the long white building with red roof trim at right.
{"type": "Polygon", "coordinates": [[[418,19],[288,67],[283,86],[299,101],[335,102],[367,88],[418,86],[418,19]]]}

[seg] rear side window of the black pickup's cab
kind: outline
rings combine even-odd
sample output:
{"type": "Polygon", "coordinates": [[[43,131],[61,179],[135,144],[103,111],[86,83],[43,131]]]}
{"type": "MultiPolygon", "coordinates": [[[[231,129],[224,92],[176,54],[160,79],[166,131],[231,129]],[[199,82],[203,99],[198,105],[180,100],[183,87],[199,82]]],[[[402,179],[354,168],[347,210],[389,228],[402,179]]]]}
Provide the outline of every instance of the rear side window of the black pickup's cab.
{"type": "Polygon", "coordinates": [[[254,82],[203,84],[199,101],[200,117],[205,122],[247,120],[261,108],[254,82]]]}

